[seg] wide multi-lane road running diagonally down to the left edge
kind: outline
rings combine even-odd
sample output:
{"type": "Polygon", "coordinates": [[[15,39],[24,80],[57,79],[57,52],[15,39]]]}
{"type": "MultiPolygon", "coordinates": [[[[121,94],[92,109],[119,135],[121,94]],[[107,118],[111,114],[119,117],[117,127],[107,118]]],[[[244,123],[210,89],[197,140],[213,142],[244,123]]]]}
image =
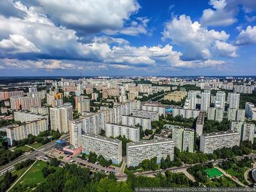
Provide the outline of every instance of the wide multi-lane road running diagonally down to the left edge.
{"type": "MultiPolygon", "coordinates": [[[[61,139],[65,140],[68,137],[69,137],[69,134],[66,134],[62,136],[61,139]]],[[[54,145],[55,145],[54,141],[51,141],[50,143],[43,145],[42,147],[38,148],[33,152],[26,153],[24,156],[20,156],[17,159],[11,161],[10,163],[4,164],[3,166],[0,167],[0,175],[1,173],[12,168],[12,166],[14,166],[17,163],[20,163],[21,161],[25,161],[26,159],[33,159],[36,156],[43,155],[46,150],[49,150],[50,148],[54,147],[54,145]]]]}

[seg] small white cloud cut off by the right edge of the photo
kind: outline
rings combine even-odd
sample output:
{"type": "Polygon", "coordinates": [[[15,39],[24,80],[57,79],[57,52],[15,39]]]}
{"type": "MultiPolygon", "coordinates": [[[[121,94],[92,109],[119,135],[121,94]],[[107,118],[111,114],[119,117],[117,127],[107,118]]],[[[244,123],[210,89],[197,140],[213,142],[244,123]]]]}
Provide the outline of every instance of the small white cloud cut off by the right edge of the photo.
{"type": "Polygon", "coordinates": [[[236,38],[236,45],[256,44],[256,26],[248,26],[236,38]]]}

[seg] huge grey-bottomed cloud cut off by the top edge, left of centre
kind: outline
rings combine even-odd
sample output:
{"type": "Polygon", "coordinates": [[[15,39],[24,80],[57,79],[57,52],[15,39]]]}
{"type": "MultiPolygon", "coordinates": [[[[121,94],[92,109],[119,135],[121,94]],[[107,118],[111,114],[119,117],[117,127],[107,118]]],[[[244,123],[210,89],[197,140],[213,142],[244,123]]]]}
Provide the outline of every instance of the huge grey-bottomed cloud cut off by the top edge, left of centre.
{"type": "Polygon", "coordinates": [[[85,33],[122,29],[125,20],[138,12],[136,0],[35,0],[38,10],[55,24],[85,33]]]}

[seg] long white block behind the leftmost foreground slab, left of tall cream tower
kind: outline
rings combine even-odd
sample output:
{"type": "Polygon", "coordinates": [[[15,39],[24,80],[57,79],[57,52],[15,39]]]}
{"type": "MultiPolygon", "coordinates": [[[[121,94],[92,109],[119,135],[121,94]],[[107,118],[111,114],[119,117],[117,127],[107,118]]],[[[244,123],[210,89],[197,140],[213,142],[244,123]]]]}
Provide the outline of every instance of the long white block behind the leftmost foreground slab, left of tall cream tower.
{"type": "Polygon", "coordinates": [[[13,111],[14,120],[20,122],[32,122],[41,118],[46,118],[47,127],[49,126],[49,117],[48,115],[32,113],[27,111],[13,111]]]}

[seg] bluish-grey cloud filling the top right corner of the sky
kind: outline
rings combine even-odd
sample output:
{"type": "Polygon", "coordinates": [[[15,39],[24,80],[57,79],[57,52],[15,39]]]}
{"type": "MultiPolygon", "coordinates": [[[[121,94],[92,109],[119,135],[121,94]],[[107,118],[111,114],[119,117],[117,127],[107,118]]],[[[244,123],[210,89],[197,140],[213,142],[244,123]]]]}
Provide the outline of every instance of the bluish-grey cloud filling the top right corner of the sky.
{"type": "Polygon", "coordinates": [[[211,0],[209,4],[212,8],[204,10],[200,19],[204,26],[234,24],[237,22],[236,15],[239,12],[239,6],[242,6],[246,13],[256,10],[256,1],[251,0],[211,0]]]}

